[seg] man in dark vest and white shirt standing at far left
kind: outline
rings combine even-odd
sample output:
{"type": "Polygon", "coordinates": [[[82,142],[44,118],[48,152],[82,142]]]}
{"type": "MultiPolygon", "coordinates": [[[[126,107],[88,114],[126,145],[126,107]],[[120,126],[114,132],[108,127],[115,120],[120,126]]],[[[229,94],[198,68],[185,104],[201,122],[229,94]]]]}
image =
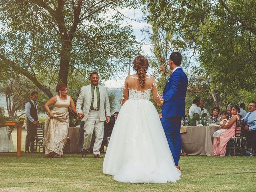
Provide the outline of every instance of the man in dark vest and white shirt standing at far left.
{"type": "Polygon", "coordinates": [[[36,99],[38,93],[33,91],[30,94],[30,100],[25,105],[26,116],[27,116],[27,136],[25,143],[25,153],[36,153],[34,148],[34,140],[36,138],[36,128],[38,127],[38,105],[36,99]],[[30,148],[30,152],[29,152],[30,148]]]}

